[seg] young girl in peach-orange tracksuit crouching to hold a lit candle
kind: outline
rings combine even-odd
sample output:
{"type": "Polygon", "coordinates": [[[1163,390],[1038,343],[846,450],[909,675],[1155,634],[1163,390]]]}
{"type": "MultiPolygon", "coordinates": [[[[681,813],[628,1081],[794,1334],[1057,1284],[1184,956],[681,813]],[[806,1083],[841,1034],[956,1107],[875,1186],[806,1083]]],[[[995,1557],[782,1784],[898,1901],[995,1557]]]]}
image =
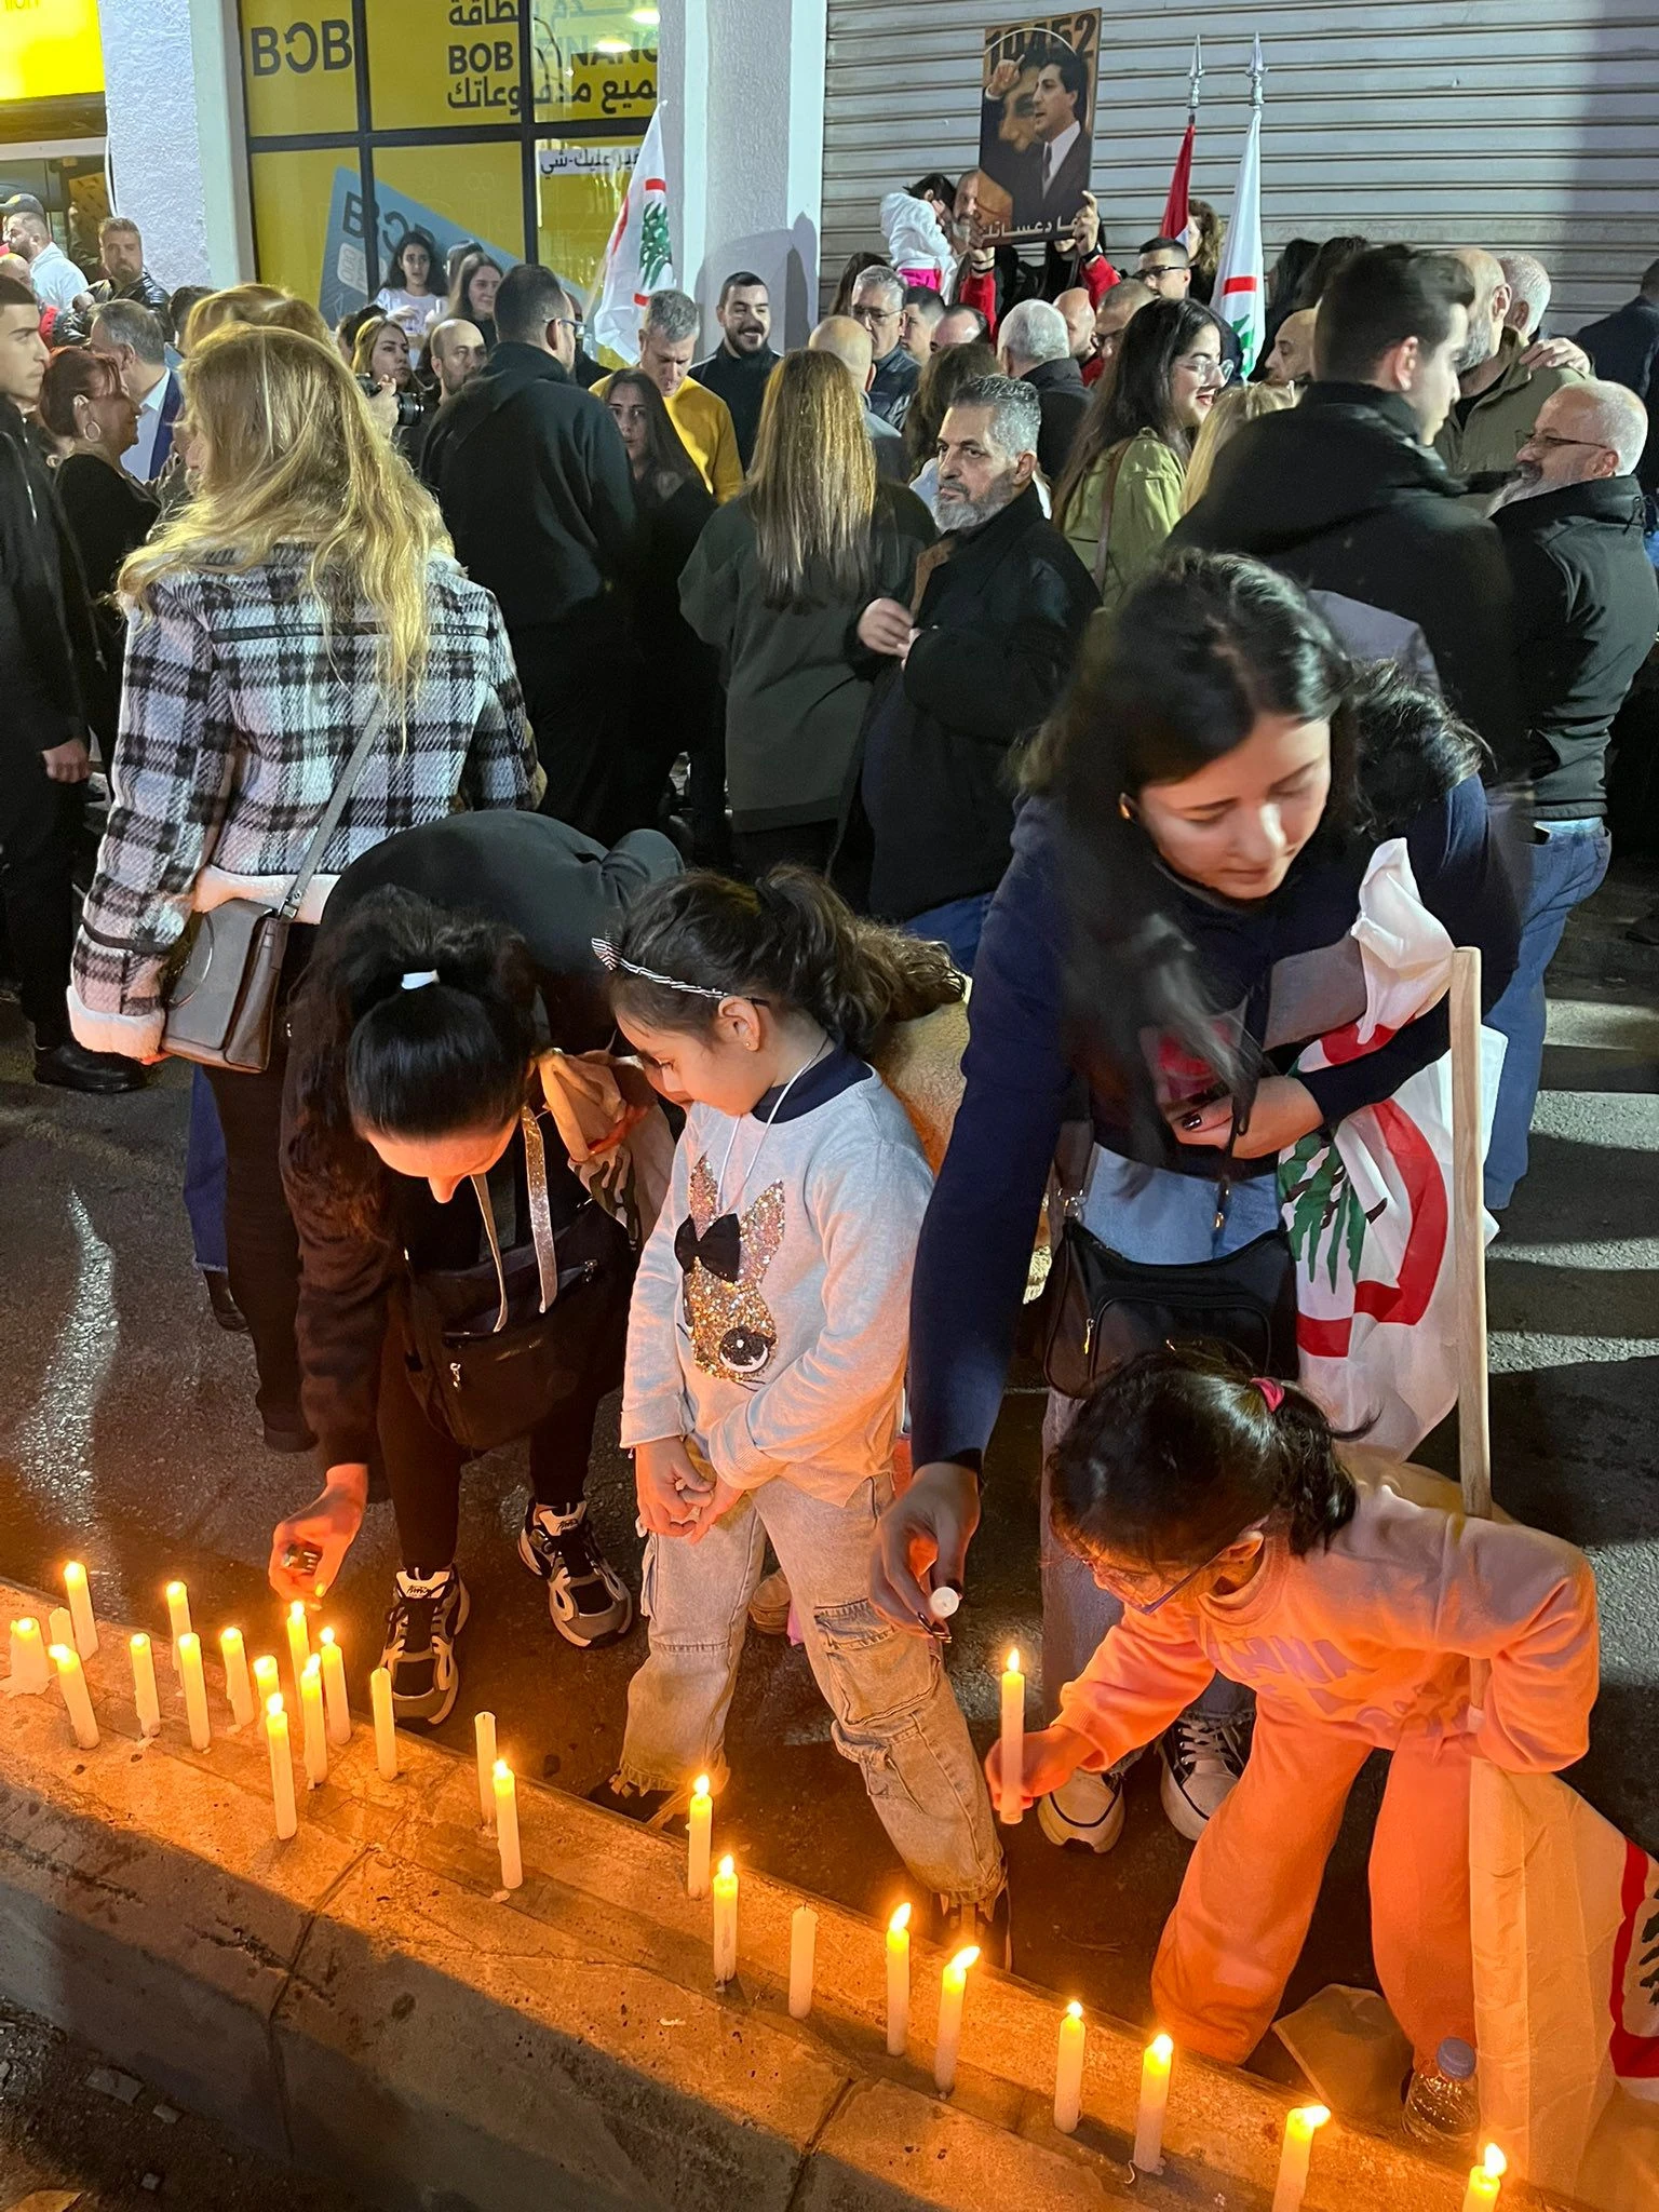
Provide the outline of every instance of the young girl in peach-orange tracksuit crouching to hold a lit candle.
{"type": "MultiPolygon", "coordinates": [[[[1371,1951],[1418,2066],[1475,2039],[1469,1761],[1584,1754],[1595,1582],[1579,1551],[1467,1520],[1420,1467],[1340,1444],[1301,1391],[1219,1349],[1152,1352],[1084,1407],[1053,1467],[1055,1535],[1124,1604],[1060,1721],[1026,1736],[1026,1803],[1150,1743],[1214,1672],[1256,1692],[1243,1778],[1199,1838],[1152,1966],[1164,2028],[1241,2062],[1307,1933],[1349,1785],[1391,1752],[1371,1951]],[[1484,1668],[1478,1703],[1471,1666],[1484,1668]]],[[[991,1796],[998,1752],[987,1761],[991,1796]]]]}

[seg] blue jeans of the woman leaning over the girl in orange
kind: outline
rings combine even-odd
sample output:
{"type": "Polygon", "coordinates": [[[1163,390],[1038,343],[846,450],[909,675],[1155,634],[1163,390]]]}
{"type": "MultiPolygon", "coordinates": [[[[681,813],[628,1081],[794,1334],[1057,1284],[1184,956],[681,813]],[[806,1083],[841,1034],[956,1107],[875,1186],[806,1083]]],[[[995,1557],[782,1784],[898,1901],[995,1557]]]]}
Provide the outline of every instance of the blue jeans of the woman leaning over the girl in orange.
{"type": "MultiPolygon", "coordinates": [[[[1146,1181],[1135,1188],[1141,1172],[1130,1161],[1095,1146],[1084,1199],[1084,1228],[1113,1252],[1121,1252],[1124,1259],[1190,1267],[1206,1259],[1223,1259],[1279,1228],[1279,1179],[1272,1175],[1252,1175],[1248,1181],[1234,1183],[1228,1194],[1225,1221],[1217,1230],[1214,1183],[1208,1177],[1152,1168],[1146,1181]]],[[[1055,1542],[1048,1520],[1048,1462],[1075,1418],[1077,1400],[1051,1391],[1042,1422],[1040,1540],[1042,1699],[1048,1717],[1060,1710],[1062,1686],[1082,1674],[1099,1639],[1124,1615],[1121,1604],[1095,1586],[1088,1566],[1055,1542]]],[[[1194,1699],[1192,1710],[1232,1719],[1250,1703],[1250,1690],[1217,1674],[1210,1688],[1194,1699]]]]}

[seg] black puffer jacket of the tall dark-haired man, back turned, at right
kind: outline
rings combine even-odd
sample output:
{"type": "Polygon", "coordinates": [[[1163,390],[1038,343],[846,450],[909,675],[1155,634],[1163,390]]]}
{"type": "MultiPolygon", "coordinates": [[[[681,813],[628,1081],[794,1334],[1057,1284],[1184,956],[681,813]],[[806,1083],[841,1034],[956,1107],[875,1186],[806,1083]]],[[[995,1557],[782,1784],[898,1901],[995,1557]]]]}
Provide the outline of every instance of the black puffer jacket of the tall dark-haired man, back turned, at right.
{"type": "Polygon", "coordinates": [[[1498,531],[1418,442],[1409,405],[1376,385],[1312,385],[1217,456],[1170,546],[1254,553],[1312,591],[1413,622],[1440,684],[1480,730],[1500,781],[1524,774],[1509,564],[1498,531]]]}

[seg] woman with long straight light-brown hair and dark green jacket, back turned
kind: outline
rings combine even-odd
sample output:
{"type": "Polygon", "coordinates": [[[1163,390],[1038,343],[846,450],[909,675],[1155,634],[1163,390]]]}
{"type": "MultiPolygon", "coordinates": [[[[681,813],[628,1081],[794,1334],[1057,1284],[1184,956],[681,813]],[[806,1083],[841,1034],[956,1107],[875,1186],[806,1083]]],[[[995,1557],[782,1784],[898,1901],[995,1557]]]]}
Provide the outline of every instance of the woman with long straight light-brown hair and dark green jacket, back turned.
{"type": "Polygon", "coordinates": [[[854,626],[872,599],[909,604],[931,542],[922,502],[876,480],[847,369],[785,354],[750,480],[679,580],[686,622],[721,657],[732,845],[748,874],[827,865],[874,681],[854,626]]]}

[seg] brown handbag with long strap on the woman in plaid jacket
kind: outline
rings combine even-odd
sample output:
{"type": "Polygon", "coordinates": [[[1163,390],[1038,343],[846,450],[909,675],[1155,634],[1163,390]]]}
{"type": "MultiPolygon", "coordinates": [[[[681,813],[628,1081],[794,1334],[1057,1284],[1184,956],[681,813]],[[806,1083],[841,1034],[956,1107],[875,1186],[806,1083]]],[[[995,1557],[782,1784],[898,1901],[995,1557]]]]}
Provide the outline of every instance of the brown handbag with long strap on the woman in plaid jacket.
{"type": "Polygon", "coordinates": [[[184,958],[164,984],[164,1053],[197,1060],[206,1068],[265,1073],[288,931],[383,730],[385,706],[376,706],[279,907],[261,905],[257,898],[228,898],[221,907],[195,916],[184,958]]]}

